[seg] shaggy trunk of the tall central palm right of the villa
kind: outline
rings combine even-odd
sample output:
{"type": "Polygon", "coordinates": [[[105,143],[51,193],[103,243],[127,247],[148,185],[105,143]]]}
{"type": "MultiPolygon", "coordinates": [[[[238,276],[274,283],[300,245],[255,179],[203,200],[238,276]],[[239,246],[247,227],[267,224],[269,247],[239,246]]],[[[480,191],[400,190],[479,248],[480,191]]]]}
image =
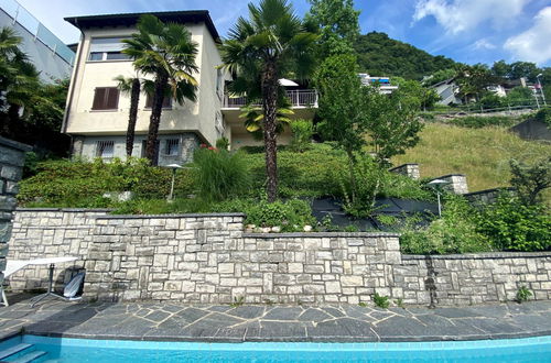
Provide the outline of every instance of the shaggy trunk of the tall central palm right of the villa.
{"type": "Polygon", "coordinates": [[[266,175],[268,176],[266,191],[269,202],[273,202],[278,198],[278,145],[276,139],[278,87],[276,64],[268,62],[262,74],[262,110],[264,113],[266,175]]]}

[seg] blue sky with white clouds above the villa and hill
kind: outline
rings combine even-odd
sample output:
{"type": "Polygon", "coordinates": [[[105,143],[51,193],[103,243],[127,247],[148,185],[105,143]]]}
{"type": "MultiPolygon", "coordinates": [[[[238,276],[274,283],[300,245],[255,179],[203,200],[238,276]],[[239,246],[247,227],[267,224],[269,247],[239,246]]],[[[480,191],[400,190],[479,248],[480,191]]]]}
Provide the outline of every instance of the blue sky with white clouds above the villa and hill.
{"type": "MultiPolygon", "coordinates": [[[[79,31],[65,16],[208,10],[225,36],[250,0],[19,0],[66,43],[79,31]]],[[[255,0],[253,2],[258,2],[255,0]]],[[[291,0],[303,15],[306,0],[291,0]]],[[[475,64],[505,59],[551,66],[551,0],[355,0],[361,32],[385,32],[433,55],[475,64]]]]}

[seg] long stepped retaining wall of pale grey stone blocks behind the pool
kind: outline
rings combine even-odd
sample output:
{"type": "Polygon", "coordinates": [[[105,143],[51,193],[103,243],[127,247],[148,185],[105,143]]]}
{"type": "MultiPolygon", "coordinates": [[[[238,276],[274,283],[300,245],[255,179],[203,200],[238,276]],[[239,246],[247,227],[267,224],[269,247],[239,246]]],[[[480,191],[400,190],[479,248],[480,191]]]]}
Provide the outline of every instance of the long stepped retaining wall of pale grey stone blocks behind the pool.
{"type": "MultiPolygon", "coordinates": [[[[110,301],[358,304],[378,293],[452,306],[512,300],[521,286],[551,298],[549,252],[411,256],[392,233],[253,234],[242,224],[239,213],[20,209],[9,258],[78,256],[85,297],[110,301]]],[[[60,268],[60,282],[72,272],[63,267],[71,268],[60,268]]],[[[10,285],[33,288],[46,278],[34,266],[10,285]]]]}

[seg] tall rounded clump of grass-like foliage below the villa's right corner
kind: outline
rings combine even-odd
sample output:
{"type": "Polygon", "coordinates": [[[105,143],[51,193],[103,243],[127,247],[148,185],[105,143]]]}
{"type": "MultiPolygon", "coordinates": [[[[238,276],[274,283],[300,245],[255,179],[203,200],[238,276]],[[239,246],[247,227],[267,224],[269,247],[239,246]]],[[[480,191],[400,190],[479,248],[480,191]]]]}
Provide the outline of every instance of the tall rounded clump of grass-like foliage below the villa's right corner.
{"type": "Polygon", "coordinates": [[[249,177],[241,153],[201,147],[193,160],[195,184],[203,199],[219,201],[247,193],[249,177]]]}

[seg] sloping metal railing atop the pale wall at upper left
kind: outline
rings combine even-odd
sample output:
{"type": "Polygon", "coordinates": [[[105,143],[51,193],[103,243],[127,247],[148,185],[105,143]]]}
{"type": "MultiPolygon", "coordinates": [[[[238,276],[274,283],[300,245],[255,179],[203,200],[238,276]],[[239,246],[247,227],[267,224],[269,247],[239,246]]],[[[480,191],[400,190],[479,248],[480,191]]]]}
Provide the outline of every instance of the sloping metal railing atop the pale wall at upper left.
{"type": "Polygon", "coordinates": [[[63,61],[73,65],[75,53],[65,45],[57,36],[46,29],[36,18],[34,18],[25,8],[15,0],[0,0],[0,9],[3,10],[13,23],[23,26],[35,38],[40,40],[52,52],[57,54],[63,61]]]}

